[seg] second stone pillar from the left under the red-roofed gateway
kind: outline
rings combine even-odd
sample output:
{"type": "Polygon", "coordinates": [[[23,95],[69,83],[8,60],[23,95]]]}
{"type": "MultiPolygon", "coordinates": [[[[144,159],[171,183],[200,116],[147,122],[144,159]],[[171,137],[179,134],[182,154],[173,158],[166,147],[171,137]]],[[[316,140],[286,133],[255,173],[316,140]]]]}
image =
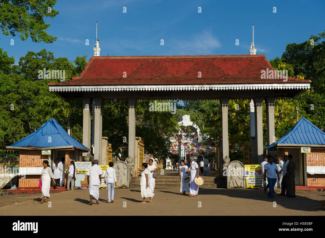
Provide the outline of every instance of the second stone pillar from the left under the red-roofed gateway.
{"type": "Polygon", "coordinates": [[[102,144],[102,99],[94,98],[95,102],[95,133],[94,133],[94,159],[101,161],[102,144]]]}

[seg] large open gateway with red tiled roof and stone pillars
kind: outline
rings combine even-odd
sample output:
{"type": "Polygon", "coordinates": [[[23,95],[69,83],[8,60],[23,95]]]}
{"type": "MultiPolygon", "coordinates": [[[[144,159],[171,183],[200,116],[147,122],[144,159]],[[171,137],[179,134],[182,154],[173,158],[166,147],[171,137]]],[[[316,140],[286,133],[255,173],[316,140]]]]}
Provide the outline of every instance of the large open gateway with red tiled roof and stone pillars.
{"type": "MultiPolygon", "coordinates": [[[[94,101],[95,159],[101,158],[102,100],[128,100],[128,151],[129,156],[134,158],[135,106],[138,99],[219,99],[222,107],[220,145],[224,158],[229,156],[228,101],[253,99],[254,113],[250,113],[252,164],[263,160],[263,101],[269,145],[275,138],[275,99],[292,98],[309,88],[310,80],[280,77],[264,54],[93,56],[80,76],[49,84],[49,90],[63,98],[82,98],[83,145],[87,148],[90,148],[91,105],[94,101]],[[274,74],[265,79],[262,77],[263,70],[273,71],[274,74]]],[[[129,165],[134,166],[134,162],[129,165]]]]}

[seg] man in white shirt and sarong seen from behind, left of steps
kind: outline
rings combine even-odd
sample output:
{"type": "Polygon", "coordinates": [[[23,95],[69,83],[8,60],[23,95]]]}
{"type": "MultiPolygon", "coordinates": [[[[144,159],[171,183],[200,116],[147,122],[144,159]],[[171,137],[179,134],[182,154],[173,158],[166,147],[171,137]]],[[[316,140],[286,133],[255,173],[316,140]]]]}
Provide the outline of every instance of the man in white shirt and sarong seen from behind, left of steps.
{"type": "Polygon", "coordinates": [[[89,196],[90,196],[90,204],[93,205],[92,197],[96,199],[96,204],[98,203],[99,198],[99,185],[101,183],[101,175],[102,171],[101,168],[98,166],[98,160],[93,161],[93,166],[90,167],[88,172],[87,182],[89,185],[89,196]]]}

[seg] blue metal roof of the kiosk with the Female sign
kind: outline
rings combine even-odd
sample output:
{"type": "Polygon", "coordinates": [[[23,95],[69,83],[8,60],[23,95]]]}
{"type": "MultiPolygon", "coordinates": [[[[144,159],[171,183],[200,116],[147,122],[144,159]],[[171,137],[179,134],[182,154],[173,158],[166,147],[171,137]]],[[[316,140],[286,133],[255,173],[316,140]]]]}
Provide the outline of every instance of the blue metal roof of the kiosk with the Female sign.
{"type": "Polygon", "coordinates": [[[6,146],[7,149],[80,149],[89,151],[87,147],[70,136],[54,119],[48,119],[37,131],[29,136],[6,146]]]}

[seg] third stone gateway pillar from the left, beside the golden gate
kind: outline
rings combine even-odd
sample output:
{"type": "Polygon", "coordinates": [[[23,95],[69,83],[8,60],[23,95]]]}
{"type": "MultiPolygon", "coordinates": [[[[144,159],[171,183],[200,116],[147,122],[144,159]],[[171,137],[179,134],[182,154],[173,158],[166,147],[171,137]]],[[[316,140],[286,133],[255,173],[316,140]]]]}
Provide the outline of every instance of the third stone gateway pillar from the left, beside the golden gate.
{"type": "MultiPolygon", "coordinates": [[[[128,140],[128,149],[129,156],[132,157],[133,162],[129,165],[129,167],[136,166],[134,164],[135,161],[135,140],[136,140],[136,98],[128,98],[129,104],[129,140],[128,140]]],[[[132,176],[137,176],[135,174],[135,169],[132,170],[132,176]]]]}

